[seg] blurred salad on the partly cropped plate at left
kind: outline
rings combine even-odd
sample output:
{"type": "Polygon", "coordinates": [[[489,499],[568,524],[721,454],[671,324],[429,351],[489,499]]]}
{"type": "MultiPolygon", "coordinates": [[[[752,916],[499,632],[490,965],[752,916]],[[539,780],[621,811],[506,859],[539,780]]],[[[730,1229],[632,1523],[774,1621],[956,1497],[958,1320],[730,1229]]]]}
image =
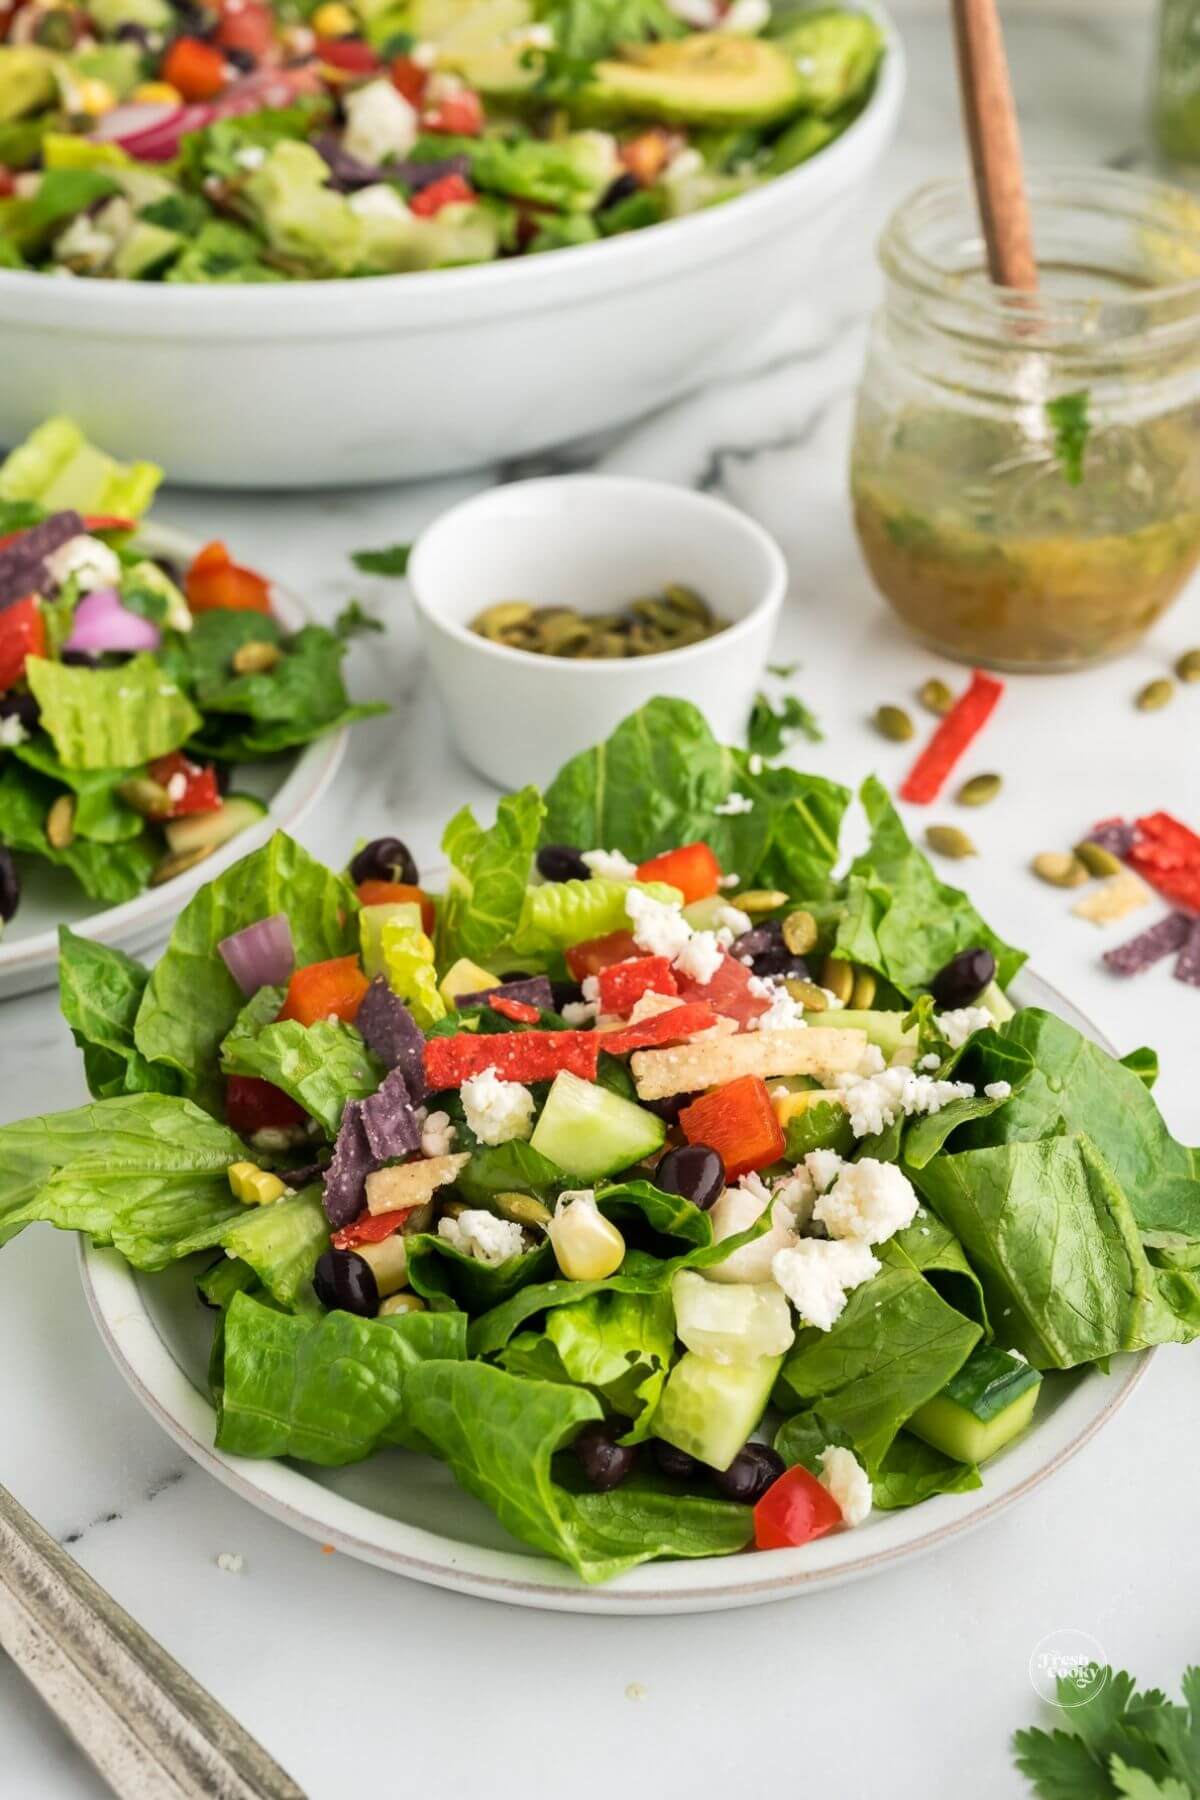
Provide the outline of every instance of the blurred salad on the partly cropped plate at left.
{"type": "Polygon", "coordinates": [[[70,419],[0,463],[0,931],[38,860],[103,905],[194,868],[266,814],[236,765],[380,711],[345,695],[345,632],[284,632],[225,544],[164,553],[160,477],[70,419]]]}

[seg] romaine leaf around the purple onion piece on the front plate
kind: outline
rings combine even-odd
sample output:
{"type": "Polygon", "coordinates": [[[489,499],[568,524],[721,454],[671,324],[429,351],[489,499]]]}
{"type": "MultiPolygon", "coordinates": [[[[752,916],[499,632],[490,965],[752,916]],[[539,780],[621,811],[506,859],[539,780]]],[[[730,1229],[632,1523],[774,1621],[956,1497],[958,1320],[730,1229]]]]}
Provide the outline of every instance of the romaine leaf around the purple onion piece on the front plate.
{"type": "Polygon", "coordinates": [[[210,1112],[223,1093],[218,1049],[243,1006],[216,947],[273,913],[288,914],[299,968],[358,949],[354,889],[275,832],[187,902],[139,1008],[140,1053],[178,1069],[184,1091],[210,1112]]]}

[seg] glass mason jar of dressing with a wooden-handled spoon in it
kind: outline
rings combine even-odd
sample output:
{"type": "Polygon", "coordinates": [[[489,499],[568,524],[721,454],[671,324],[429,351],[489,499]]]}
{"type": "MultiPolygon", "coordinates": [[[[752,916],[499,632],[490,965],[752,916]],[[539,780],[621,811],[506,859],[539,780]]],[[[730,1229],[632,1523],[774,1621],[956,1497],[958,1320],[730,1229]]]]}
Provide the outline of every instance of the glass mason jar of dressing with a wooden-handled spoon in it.
{"type": "Polygon", "coordinates": [[[1070,670],[1135,643],[1200,558],[1200,203],[1108,169],[1029,202],[1036,295],[990,283],[966,182],[891,218],[851,490],[919,637],[1070,670]]]}

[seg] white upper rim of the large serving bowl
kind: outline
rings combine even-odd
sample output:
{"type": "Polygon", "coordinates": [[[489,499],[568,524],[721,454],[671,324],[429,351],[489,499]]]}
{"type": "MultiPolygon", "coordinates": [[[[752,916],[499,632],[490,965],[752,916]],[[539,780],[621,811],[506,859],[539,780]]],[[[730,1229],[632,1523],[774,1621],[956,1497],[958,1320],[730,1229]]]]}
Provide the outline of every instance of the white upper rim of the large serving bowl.
{"type": "MultiPolygon", "coordinates": [[[[792,202],[806,185],[829,185],[837,191],[838,176],[844,166],[849,167],[856,160],[862,140],[880,128],[887,130],[894,119],[905,90],[905,54],[900,31],[876,0],[851,0],[851,4],[874,18],[885,40],[883,61],[862,113],[810,162],[720,207],[705,207],[685,218],[664,220],[646,230],[621,232],[603,243],[574,245],[556,250],[552,256],[513,257],[506,263],[261,286],[254,283],[245,286],[176,284],[164,290],[155,283],[76,281],[56,283],[56,297],[65,295],[67,306],[79,313],[81,322],[86,320],[88,329],[115,329],[121,335],[135,335],[151,326],[166,335],[184,335],[198,329],[201,319],[207,320],[209,328],[216,328],[219,322],[230,320],[230,315],[236,315],[237,329],[248,329],[255,335],[277,333],[281,326],[284,329],[295,326],[304,335],[317,335],[313,333],[311,308],[326,299],[335,320],[331,329],[336,329],[338,319],[345,320],[347,310],[354,310],[363,292],[378,292],[385,308],[394,306],[399,293],[419,293],[435,302],[437,308],[455,306],[468,295],[488,297],[495,293],[497,301],[511,299],[513,306],[531,310],[527,290],[547,286],[547,265],[560,270],[560,279],[563,274],[578,272],[579,284],[587,288],[597,263],[613,281],[628,283],[642,272],[653,274],[655,245],[662,247],[666,257],[671,254],[671,245],[689,245],[689,259],[698,259],[705,248],[718,247],[729,236],[727,221],[730,218],[747,227],[754,221],[766,225],[775,212],[790,212],[792,202]],[[77,308],[72,306],[68,293],[79,293],[77,308]]],[[[0,270],[0,304],[9,297],[36,301],[38,295],[45,293],[45,281],[43,274],[0,270]]],[[[558,299],[547,299],[547,304],[558,304],[558,299]]],[[[403,313],[398,315],[398,324],[405,324],[403,313]]]]}

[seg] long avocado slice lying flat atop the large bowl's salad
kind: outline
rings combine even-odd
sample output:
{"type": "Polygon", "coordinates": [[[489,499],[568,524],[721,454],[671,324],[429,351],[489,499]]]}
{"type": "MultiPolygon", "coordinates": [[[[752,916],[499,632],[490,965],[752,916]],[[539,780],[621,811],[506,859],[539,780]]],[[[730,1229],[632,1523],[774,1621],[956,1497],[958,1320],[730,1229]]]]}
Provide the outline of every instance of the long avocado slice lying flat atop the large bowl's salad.
{"type": "Polygon", "coordinates": [[[667,43],[628,45],[596,65],[581,110],[669,124],[766,126],[804,104],[786,47],[763,38],[696,31],[667,43]]]}

